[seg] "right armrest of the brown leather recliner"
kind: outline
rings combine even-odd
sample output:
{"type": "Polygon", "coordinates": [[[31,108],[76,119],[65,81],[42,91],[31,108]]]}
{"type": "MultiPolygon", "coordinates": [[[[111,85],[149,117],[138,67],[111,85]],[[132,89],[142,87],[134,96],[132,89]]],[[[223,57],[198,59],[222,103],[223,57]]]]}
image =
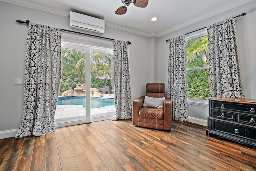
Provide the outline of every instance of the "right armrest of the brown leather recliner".
{"type": "Polygon", "coordinates": [[[169,97],[164,100],[164,130],[171,130],[172,125],[172,103],[169,97]]]}

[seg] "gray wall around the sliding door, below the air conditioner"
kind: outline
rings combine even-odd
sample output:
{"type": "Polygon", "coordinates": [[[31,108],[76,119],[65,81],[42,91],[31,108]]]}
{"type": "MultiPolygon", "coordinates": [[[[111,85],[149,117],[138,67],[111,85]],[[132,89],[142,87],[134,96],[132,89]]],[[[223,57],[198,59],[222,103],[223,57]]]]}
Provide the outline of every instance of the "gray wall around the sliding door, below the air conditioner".
{"type": "MultiPolygon", "coordinates": [[[[14,85],[14,78],[24,78],[28,27],[17,23],[18,19],[71,30],[68,17],[0,1],[0,134],[18,129],[22,117],[24,85],[14,85]]],[[[98,36],[132,42],[128,46],[132,99],[143,95],[146,83],[154,80],[148,67],[150,58],[154,58],[149,52],[150,38],[107,27],[105,33],[98,36]]],[[[74,37],[85,42],[90,39],[82,35],[74,37]]]]}

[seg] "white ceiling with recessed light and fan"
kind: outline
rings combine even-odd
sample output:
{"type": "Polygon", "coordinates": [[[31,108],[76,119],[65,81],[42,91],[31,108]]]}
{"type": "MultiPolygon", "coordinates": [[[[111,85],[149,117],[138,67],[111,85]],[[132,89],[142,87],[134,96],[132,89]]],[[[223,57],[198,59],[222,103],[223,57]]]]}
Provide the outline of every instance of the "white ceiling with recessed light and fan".
{"type": "Polygon", "coordinates": [[[69,16],[69,11],[80,12],[104,19],[107,27],[160,37],[252,0],[149,0],[146,8],[130,4],[124,15],[114,14],[117,8],[123,6],[121,0],[2,1],[62,16],[69,16]],[[153,16],[158,17],[156,22],[150,20],[153,16]]]}

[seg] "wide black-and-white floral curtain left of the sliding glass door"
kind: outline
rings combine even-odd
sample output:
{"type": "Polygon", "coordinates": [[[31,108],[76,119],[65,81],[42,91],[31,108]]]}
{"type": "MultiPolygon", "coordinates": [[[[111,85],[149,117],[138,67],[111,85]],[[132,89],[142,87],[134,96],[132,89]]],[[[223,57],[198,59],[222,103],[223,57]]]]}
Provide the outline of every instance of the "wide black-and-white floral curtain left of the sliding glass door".
{"type": "Polygon", "coordinates": [[[55,130],[54,113],[61,76],[61,30],[29,23],[26,40],[24,103],[15,138],[55,130]]]}

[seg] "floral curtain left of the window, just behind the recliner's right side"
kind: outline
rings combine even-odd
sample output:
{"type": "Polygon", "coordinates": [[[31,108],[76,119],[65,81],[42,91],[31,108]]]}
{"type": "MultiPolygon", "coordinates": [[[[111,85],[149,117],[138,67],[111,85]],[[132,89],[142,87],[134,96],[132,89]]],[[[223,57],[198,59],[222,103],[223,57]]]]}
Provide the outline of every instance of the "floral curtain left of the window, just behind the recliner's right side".
{"type": "Polygon", "coordinates": [[[188,121],[185,35],[170,40],[168,97],[172,102],[172,118],[188,121]]]}

